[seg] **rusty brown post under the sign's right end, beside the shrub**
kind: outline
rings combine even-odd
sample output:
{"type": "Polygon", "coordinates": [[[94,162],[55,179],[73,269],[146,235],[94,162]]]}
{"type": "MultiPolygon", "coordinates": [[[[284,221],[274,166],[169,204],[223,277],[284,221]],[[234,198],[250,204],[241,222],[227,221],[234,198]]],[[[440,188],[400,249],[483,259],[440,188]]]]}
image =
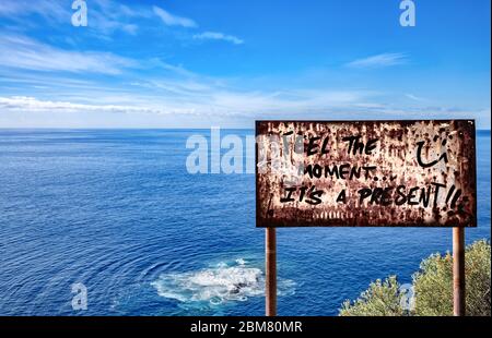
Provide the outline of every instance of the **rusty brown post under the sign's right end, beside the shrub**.
{"type": "Polygon", "coordinates": [[[453,313],[464,316],[465,302],[465,228],[453,228],[453,313]]]}

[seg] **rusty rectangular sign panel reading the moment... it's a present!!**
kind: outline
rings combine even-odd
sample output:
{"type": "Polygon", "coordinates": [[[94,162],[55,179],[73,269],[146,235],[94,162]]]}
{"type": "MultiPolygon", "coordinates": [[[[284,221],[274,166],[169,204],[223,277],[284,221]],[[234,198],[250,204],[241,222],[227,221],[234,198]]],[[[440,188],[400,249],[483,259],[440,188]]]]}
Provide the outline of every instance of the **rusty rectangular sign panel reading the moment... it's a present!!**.
{"type": "Polygon", "coordinates": [[[472,120],[257,121],[257,227],[477,227],[472,120]]]}

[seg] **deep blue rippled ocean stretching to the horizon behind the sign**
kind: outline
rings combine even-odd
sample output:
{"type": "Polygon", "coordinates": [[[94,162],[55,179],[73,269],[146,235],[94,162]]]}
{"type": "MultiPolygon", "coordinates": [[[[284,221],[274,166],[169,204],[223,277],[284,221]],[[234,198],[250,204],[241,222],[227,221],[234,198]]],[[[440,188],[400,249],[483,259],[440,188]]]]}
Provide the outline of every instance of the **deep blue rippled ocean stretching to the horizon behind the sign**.
{"type": "MultiPolygon", "coordinates": [[[[0,315],[262,315],[255,176],[188,173],[192,134],[210,131],[0,130],[0,315]],[[73,283],[87,310],[72,309],[73,283]]],[[[490,132],[477,144],[467,243],[491,233],[490,132]]],[[[337,315],[449,250],[452,229],[279,229],[278,312],[337,315]]]]}

